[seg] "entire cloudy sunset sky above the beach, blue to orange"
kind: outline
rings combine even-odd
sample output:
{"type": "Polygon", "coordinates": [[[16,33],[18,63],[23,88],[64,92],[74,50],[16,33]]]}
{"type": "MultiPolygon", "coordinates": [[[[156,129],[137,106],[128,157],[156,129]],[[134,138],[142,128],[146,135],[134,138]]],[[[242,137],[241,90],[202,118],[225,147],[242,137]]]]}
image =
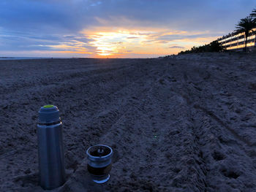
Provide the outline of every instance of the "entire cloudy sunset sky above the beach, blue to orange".
{"type": "Polygon", "coordinates": [[[0,57],[154,58],[236,29],[255,0],[1,0],[0,57]]]}

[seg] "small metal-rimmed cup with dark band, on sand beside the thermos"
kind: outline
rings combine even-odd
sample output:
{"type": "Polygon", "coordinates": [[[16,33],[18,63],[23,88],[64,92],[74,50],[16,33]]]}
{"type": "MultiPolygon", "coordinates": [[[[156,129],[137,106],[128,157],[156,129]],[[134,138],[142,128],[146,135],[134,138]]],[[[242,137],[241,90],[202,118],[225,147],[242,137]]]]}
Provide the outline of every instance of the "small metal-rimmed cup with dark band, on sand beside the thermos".
{"type": "Polygon", "coordinates": [[[94,183],[105,183],[110,178],[113,150],[107,145],[94,145],[86,151],[87,169],[94,183]]]}

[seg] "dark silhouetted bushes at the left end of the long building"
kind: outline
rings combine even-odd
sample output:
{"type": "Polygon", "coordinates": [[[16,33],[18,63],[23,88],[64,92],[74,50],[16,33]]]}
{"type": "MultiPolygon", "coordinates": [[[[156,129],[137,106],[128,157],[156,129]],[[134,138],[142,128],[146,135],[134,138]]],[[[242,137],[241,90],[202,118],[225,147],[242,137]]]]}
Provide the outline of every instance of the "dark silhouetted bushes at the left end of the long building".
{"type": "Polygon", "coordinates": [[[222,51],[222,46],[220,45],[220,43],[215,40],[211,43],[209,43],[208,45],[202,45],[199,47],[192,47],[191,50],[185,50],[185,51],[181,51],[178,54],[186,54],[186,53],[209,53],[209,52],[220,52],[222,51]]]}

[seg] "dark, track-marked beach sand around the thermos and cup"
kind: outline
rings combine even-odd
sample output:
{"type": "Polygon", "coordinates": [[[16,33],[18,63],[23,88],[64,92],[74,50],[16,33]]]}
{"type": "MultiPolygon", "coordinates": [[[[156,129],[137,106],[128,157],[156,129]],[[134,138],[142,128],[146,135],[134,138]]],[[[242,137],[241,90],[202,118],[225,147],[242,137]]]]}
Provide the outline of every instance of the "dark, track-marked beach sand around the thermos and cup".
{"type": "Polygon", "coordinates": [[[0,191],[38,185],[37,112],[64,124],[53,191],[256,191],[256,55],[0,61],[0,191]],[[86,149],[113,147],[91,182],[86,149]]]}

